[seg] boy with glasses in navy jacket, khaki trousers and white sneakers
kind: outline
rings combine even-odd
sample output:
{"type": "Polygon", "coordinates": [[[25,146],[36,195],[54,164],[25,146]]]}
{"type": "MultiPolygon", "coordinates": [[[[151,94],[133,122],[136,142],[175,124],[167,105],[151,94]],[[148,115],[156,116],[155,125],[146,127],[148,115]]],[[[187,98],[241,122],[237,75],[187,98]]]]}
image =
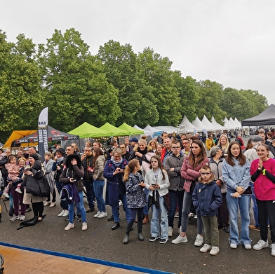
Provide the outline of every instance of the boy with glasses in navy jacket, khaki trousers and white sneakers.
{"type": "Polygon", "coordinates": [[[208,165],[203,165],[200,173],[199,184],[196,184],[192,195],[194,207],[201,214],[206,239],[205,245],[199,251],[210,250],[210,255],[216,255],[220,251],[217,209],[222,204],[222,193],[208,165]]]}

